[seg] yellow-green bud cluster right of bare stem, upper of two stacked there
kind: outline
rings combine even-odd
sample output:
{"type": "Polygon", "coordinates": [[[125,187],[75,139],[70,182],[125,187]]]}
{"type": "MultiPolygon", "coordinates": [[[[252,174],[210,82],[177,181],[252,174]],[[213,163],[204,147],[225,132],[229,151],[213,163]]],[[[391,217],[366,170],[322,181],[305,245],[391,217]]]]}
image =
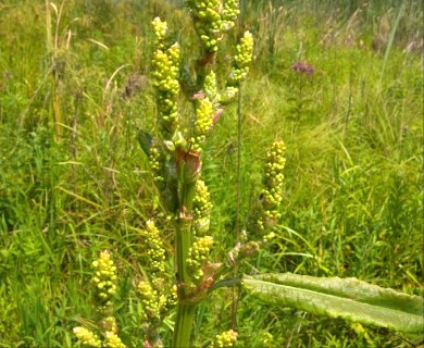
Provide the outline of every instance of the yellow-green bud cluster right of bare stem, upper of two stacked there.
{"type": "Polygon", "coordinates": [[[213,204],[210,201],[210,195],[207,185],[201,179],[196,183],[196,195],[192,200],[194,211],[194,235],[204,236],[209,231],[211,222],[211,210],[213,204]]]}

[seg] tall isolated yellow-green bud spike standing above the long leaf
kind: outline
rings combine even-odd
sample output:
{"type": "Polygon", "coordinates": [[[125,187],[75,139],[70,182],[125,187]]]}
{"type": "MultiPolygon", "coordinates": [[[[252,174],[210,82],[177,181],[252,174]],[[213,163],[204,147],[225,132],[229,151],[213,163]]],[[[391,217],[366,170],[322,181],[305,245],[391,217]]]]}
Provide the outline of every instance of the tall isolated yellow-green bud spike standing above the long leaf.
{"type": "Polygon", "coordinates": [[[279,204],[283,200],[283,179],[284,179],[284,153],[286,147],[284,141],[275,141],[267,152],[267,163],[265,164],[265,188],[261,192],[262,216],[258,221],[261,232],[271,232],[264,236],[264,239],[273,237],[273,227],[277,224],[280,213],[279,204]]]}

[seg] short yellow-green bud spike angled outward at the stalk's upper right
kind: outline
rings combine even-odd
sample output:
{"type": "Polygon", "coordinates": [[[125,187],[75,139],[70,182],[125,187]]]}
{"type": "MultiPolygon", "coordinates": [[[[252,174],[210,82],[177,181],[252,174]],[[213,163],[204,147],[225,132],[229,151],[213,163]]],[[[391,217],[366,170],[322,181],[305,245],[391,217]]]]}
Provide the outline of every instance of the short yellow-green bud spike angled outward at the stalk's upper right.
{"type": "Polygon", "coordinates": [[[237,54],[234,58],[234,67],[229,75],[229,85],[237,86],[246,79],[253,57],[253,36],[250,32],[245,32],[237,45],[237,54]]]}

